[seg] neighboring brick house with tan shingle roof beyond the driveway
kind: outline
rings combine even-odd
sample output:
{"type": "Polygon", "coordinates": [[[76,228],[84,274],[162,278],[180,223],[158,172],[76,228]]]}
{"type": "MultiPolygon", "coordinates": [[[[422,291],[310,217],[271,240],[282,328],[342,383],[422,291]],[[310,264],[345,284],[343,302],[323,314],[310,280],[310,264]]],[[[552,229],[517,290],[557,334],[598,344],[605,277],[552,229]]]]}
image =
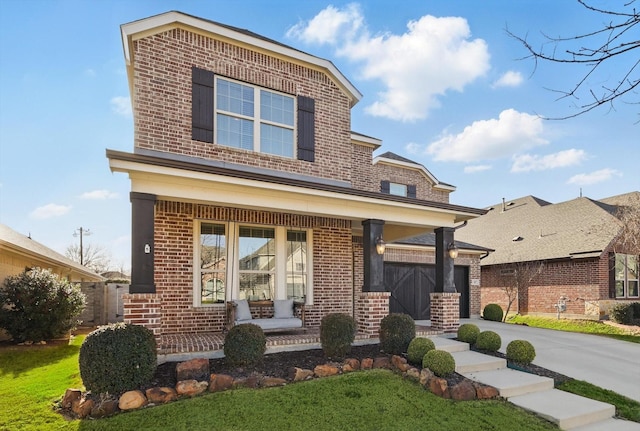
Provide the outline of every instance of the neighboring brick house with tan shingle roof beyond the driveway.
{"type": "Polygon", "coordinates": [[[601,318],[618,301],[638,301],[639,256],[618,241],[623,205],[640,205],[640,193],[557,204],[526,196],[469,221],[457,239],[495,250],[481,261],[481,307],[506,309],[503,286],[527,267],[531,281],[524,280],[511,312],[557,316],[564,305],[565,317],[601,318]]]}

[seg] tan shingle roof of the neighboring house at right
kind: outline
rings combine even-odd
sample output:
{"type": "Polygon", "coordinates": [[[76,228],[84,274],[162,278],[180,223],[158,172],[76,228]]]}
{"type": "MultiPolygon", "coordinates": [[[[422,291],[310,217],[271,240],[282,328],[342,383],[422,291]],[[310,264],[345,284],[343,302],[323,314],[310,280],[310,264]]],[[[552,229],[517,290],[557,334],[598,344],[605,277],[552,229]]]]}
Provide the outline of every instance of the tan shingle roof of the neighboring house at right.
{"type": "MultiPolygon", "coordinates": [[[[612,200],[613,199],[613,200],[612,200]]],[[[617,207],[577,198],[551,204],[534,196],[493,205],[456,239],[495,250],[482,265],[600,256],[620,231],[617,207]]]]}

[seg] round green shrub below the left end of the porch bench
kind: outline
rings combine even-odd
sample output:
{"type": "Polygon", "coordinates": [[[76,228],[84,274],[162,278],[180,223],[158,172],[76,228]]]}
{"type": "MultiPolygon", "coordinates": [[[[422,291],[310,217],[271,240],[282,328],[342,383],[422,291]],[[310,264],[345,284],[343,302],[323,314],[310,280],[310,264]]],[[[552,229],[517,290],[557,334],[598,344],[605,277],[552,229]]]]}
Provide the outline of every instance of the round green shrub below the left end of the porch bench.
{"type": "Polygon", "coordinates": [[[224,356],[234,366],[252,366],[260,361],[267,350],[267,337],[258,325],[236,325],[224,337],[224,356]]]}

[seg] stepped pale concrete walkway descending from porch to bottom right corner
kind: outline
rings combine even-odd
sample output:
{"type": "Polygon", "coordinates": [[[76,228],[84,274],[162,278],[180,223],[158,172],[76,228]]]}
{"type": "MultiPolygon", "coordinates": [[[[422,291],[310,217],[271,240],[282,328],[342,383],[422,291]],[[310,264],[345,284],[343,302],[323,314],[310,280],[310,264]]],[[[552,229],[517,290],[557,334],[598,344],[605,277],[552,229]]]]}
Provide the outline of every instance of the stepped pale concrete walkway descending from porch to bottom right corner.
{"type": "Polygon", "coordinates": [[[456,371],[493,386],[510,403],[529,410],[562,430],[639,431],[640,424],[616,419],[611,404],[553,388],[553,379],[507,368],[506,360],[469,350],[467,343],[430,337],[437,349],[446,350],[456,361],[456,371]]]}

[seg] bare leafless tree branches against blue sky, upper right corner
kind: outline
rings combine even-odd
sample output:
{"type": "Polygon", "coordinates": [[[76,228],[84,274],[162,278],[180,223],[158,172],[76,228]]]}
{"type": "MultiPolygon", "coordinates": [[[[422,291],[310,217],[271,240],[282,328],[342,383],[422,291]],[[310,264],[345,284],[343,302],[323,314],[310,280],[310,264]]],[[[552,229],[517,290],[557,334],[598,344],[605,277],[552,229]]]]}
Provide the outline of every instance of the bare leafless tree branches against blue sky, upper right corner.
{"type": "Polygon", "coordinates": [[[529,51],[524,58],[533,58],[535,68],[541,61],[581,67],[577,82],[572,88],[552,90],[560,94],[558,100],[574,99],[577,111],[561,117],[546,117],[547,119],[577,117],[603,105],[614,109],[616,100],[640,104],[637,91],[640,84],[640,12],[634,7],[635,0],[626,0],[619,10],[601,9],[592,6],[587,0],[577,1],[589,11],[601,14],[605,22],[592,31],[568,37],[552,37],[542,33],[544,42],[540,48],[534,47],[528,36],[517,36],[507,29],[507,34],[529,51]],[[617,67],[607,68],[612,63],[617,67]],[[586,72],[583,72],[584,67],[586,72]],[[598,76],[600,72],[611,74],[611,77],[606,78],[605,84],[592,84],[601,79],[598,76]]]}

